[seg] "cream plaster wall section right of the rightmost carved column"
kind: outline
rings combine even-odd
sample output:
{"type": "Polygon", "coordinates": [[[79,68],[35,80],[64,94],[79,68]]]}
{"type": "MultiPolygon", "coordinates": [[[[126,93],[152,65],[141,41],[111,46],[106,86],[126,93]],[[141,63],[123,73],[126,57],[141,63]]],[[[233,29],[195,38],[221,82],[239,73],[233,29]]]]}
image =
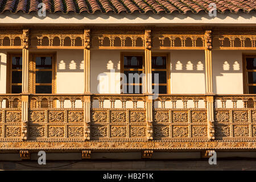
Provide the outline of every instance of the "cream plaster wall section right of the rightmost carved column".
{"type": "Polygon", "coordinates": [[[213,51],[213,93],[242,94],[243,67],[242,54],[256,51],[213,51]]]}

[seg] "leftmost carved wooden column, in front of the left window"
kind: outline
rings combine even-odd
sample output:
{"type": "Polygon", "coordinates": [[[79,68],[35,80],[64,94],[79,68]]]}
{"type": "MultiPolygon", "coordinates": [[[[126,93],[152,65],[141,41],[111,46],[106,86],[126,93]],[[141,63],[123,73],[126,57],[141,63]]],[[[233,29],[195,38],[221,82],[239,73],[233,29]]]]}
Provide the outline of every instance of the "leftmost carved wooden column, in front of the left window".
{"type": "Polygon", "coordinates": [[[28,124],[28,59],[29,59],[29,30],[23,29],[22,48],[22,140],[27,140],[28,124]]]}

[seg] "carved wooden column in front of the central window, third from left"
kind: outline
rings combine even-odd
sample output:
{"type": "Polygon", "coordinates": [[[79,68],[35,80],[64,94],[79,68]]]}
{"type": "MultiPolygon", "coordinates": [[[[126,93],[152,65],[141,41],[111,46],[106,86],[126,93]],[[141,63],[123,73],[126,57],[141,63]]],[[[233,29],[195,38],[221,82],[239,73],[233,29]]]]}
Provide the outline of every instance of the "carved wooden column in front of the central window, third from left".
{"type": "MultiPolygon", "coordinates": [[[[152,69],[151,69],[151,30],[146,29],[145,35],[145,77],[144,77],[144,86],[143,86],[143,93],[152,94],[152,69]]],[[[153,139],[153,100],[152,96],[146,96],[146,122],[147,122],[147,139],[153,139]]]]}

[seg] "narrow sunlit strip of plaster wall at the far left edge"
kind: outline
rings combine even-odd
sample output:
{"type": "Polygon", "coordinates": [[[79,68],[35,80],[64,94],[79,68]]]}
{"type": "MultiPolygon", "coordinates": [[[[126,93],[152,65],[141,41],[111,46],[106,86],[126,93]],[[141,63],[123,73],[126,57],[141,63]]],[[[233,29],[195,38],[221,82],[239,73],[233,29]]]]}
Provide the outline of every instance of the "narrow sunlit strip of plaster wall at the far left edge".
{"type": "Polygon", "coordinates": [[[6,51],[0,52],[0,93],[6,93],[6,51]]]}

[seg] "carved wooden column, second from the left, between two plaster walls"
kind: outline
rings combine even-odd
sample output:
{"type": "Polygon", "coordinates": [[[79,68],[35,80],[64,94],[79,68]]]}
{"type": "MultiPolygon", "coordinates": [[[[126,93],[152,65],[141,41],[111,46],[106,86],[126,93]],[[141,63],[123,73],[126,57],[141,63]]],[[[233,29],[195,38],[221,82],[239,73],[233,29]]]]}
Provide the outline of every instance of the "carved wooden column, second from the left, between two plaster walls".
{"type": "MultiPolygon", "coordinates": [[[[90,30],[84,30],[84,93],[90,94],[90,30]]],[[[84,139],[90,140],[90,96],[84,96],[84,139]]]]}

